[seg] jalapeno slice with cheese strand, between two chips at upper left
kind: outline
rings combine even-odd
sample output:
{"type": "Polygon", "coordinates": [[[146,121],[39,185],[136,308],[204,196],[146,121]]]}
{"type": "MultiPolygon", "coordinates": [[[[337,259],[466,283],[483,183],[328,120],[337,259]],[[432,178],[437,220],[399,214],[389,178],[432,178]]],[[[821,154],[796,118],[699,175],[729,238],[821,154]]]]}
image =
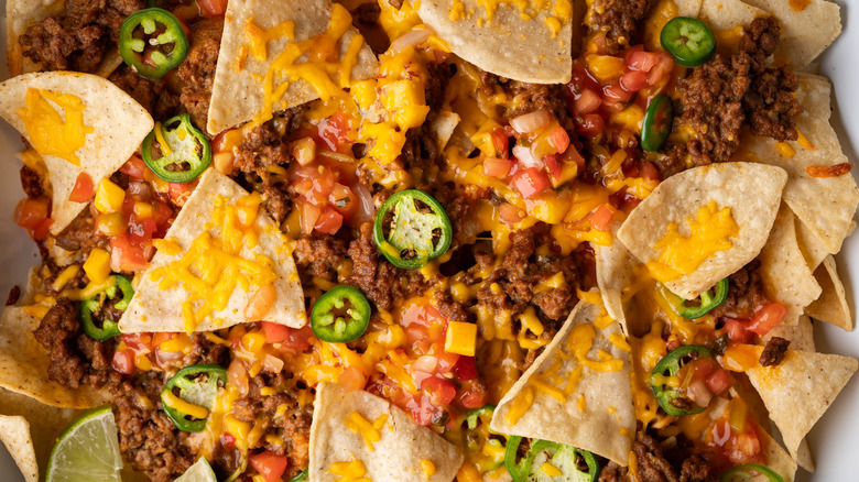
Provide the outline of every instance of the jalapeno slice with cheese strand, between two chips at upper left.
{"type": "Polygon", "coordinates": [[[141,146],[143,161],[167,183],[187,183],[203,174],[211,163],[211,145],[187,113],[155,122],[141,146]],[[155,157],[157,143],[161,157],[155,157]]]}

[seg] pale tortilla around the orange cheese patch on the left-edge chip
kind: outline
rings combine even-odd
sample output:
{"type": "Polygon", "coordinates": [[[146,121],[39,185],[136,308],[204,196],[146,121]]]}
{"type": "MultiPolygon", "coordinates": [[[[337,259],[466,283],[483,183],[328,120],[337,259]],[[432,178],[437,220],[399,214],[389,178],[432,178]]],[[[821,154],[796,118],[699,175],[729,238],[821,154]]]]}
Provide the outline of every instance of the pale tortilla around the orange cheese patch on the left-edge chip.
{"type": "Polygon", "coordinates": [[[78,97],[85,105],[84,123],[93,128],[93,132],[86,134],[86,144],[75,152],[80,160],[79,166],[62,157],[42,154],[54,191],[51,233],[56,234],[87,206],[68,200],[78,175],[88,174],[93,185],[98,186],[138,150],[143,138],[152,131],[153,121],[131,96],[99,76],[70,72],[24,74],[0,84],[0,116],[28,142],[30,134],[15,110],[25,106],[24,98],[30,88],[78,97]]]}

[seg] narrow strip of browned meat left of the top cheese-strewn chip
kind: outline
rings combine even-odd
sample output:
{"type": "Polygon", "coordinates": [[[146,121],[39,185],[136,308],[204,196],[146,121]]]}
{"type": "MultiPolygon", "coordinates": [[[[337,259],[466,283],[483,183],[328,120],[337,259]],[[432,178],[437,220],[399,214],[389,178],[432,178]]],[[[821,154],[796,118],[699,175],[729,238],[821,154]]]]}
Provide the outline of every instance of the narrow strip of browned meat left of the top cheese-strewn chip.
{"type": "Polygon", "coordinates": [[[203,132],[207,132],[211,86],[215,83],[215,68],[218,65],[222,34],[224,18],[221,17],[206,19],[194,25],[188,56],[176,69],[176,75],[185,83],[180,101],[203,132]]]}

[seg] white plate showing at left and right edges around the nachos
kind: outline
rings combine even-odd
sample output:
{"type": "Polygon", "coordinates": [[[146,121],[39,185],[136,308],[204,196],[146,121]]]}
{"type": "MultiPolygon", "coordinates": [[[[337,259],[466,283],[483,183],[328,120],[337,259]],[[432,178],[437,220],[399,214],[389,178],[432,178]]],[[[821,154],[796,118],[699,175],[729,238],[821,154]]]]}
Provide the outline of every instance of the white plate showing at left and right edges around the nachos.
{"type": "MultiPolygon", "coordinates": [[[[785,0],[786,1],[786,0],[785,0]]],[[[6,11],[6,1],[0,3],[6,11]]],[[[823,57],[820,74],[829,77],[835,84],[835,113],[833,123],[841,138],[844,149],[850,162],[856,163],[859,152],[859,62],[856,51],[859,50],[859,4],[849,4],[849,0],[836,0],[841,6],[841,17],[845,32],[826,51],[823,57]],[[850,113],[853,113],[852,116],[850,113]],[[852,135],[852,140],[848,136],[852,135]]],[[[6,22],[2,22],[6,25],[6,22]]],[[[6,52],[6,29],[0,29],[0,51],[6,52]]],[[[6,63],[0,66],[0,78],[9,77],[6,63]]],[[[15,284],[23,286],[30,266],[39,262],[34,244],[26,233],[12,222],[12,212],[20,199],[24,197],[19,180],[20,162],[14,157],[20,149],[20,135],[6,122],[0,125],[0,303],[6,300],[9,291],[15,284]]],[[[853,171],[853,175],[857,173],[853,171]]],[[[850,283],[850,273],[859,272],[859,234],[845,242],[844,250],[838,255],[840,275],[847,287],[852,313],[856,314],[855,300],[859,299],[859,284],[850,283]],[[848,273],[848,270],[850,273],[848,273]]],[[[823,352],[849,354],[859,358],[859,330],[845,333],[830,326],[816,327],[815,339],[817,348],[823,352]]],[[[859,376],[853,376],[845,387],[833,407],[826,413],[809,435],[812,452],[817,462],[817,471],[808,475],[801,471],[797,481],[849,481],[859,480],[859,376]]],[[[0,480],[4,482],[23,482],[23,478],[14,462],[0,443],[0,480]]]]}

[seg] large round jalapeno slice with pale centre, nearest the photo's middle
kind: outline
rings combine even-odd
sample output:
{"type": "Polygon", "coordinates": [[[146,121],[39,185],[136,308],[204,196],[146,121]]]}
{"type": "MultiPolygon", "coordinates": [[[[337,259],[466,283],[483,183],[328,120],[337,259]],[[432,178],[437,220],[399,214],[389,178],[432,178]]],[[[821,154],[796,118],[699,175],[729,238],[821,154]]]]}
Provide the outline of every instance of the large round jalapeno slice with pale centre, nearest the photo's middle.
{"type": "Polygon", "coordinates": [[[398,267],[424,266],[450,248],[452,238],[453,228],[444,208],[423,190],[395,193],[376,213],[376,245],[398,267]]]}

